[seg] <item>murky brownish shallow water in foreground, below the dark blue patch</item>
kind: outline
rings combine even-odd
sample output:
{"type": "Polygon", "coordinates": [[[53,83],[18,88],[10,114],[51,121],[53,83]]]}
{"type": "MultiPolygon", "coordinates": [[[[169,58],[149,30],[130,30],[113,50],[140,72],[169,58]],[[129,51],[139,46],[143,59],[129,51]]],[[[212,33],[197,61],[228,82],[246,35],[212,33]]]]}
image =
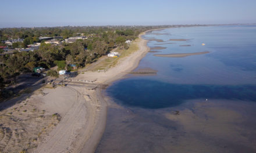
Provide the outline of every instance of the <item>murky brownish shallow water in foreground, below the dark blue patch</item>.
{"type": "Polygon", "coordinates": [[[112,102],[96,152],[255,152],[254,102],[189,100],[146,110],[112,102]]]}

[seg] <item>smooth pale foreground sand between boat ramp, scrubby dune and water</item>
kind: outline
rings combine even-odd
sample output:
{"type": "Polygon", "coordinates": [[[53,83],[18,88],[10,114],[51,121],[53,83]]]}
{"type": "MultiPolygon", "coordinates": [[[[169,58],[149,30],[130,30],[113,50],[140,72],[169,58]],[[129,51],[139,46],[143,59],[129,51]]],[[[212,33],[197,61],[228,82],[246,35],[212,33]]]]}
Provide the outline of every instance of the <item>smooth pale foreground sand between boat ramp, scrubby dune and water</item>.
{"type": "MultiPolygon", "coordinates": [[[[55,94],[49,93],[44,97],[42,108],[58,112],[62,119],[44,142],[38,145],[35,152],[80,152],[92,137],[91,134],[97,129],[97,124],[101,123],[98,121],[101,116],[99,113],[104,113],[102,111],[104,107],[101,107],[96,99],[95,90],[77,86],[58,87],[54,90],[59,91],[58,96],[69,92],[73,99],[55,100],[56,92],[55,94]]],[[[91,150],[94,149],[91,148],[91,150]]]]}

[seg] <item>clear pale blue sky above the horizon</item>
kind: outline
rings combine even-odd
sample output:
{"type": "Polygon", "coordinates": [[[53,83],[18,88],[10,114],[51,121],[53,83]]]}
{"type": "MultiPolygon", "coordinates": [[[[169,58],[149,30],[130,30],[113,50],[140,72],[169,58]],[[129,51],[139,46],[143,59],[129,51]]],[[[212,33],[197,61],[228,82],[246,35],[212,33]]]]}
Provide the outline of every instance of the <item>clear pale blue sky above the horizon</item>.
{"type": "Polygon", "coordinates": [[[256,23],[256,0],[1,0],[0,27],[256,23]]]}

